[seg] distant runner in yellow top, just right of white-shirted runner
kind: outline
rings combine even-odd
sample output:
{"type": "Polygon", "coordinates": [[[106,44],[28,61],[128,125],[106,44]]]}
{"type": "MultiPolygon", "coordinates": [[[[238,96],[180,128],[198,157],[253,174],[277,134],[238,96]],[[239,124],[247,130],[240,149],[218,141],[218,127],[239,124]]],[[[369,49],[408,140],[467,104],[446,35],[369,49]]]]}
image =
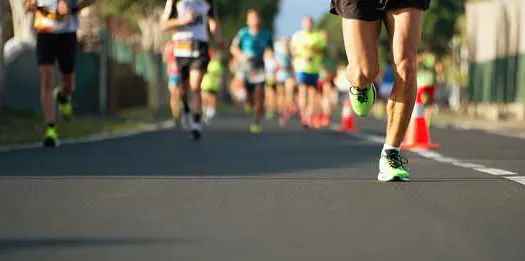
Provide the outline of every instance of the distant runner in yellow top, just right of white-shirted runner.
{"type": "Polygon", "coordinates": [[[210,124],[217,111],[217,91],[222,82],[224,72],[220,55],[210,51],[211,61],[208,70],[202,79],[202,103],[204,123],[210,124]]]}

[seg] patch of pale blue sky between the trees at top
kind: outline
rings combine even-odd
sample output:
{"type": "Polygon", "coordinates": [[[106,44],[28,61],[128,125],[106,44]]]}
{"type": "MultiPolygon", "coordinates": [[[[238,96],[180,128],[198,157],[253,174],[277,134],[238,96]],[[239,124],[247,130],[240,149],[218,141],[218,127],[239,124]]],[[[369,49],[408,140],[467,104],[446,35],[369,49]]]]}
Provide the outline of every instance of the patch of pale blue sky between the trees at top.
{"type": "Polygon", "coordinates": [[[291,35],[301,28],[301,18],[306,15],[319,18],[328,12],[330,0],[281,0],[277,17],[277,35],[291,35]]]}

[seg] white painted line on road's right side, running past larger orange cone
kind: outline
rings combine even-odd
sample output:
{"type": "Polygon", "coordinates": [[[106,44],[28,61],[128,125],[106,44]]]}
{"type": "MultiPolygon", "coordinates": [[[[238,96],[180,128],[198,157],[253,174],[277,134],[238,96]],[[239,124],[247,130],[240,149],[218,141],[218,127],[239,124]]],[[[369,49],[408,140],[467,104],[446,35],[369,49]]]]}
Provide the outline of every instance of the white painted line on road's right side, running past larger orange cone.
{"type": "MultiPolygon", "coordinates": [[[[351,134],[352,136],[354,137],[357,137],[357,138],[360,138],[360,139],[364,139],[364,140],[368,140],[370,142],[374,142],[374,143],[384,143],[384,139],[380,136],[376,136],[376,135],[369,135],[369,134],[351,134]]],[[[518,173],[514,172],[514,171],[510,171],[510,170],[504,170],[504,169],[496,169],[496,168],[489,168],[489,167],[486,167],[482,164],[476,164],[476,163],[470,163],[470,162],[464,162],[464,161],[461,161],[459,159],[454,159],[454,158],[450,158],[450,157],[446,157],[446,156],[443,156],[435,151],[430,151],[430,150],[426,150],[426,149],[411,149],[409,150],[410,152],[413,152],[413,153],[416,153],[418,154],[419,156],[423,157],[423,158],[427,158],[427,159],[431,159],[431,160],[434,160],[434,161],[437,161],[437,162],[441,162],[441,163],[448,163],[448,164],[451,164],[451,165],[454,165],[454,166],[457,166],[457,167],[462,167],[462,168],[466,168],[466,169],[472,169],[472,170],[475,170],[475,171],[478,171],[478,172],[483,172],[483,173],[487,173],[487,174],[490,174],[490,175],[495,175],[495,176],[511,176],[511,175],[518,175],[518,173]]],[[[525,177],[505,177],[509,180],[513,180],[513,181],[516,181],[518,183],[521,183],[521,184],[524,184],[525,185],[525,177]]]]}

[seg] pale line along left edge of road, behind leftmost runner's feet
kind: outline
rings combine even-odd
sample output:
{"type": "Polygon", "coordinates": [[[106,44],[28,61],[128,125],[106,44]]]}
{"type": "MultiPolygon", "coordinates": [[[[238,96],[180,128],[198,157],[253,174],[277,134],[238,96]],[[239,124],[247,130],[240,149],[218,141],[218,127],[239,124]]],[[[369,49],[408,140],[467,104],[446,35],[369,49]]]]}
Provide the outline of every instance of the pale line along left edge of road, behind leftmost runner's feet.
{"type": "MultiPolygon", "coordinates": [[[[136,136],[143,133],[148,132],[154,132],[159,130],[167,130],[171,129],[175,126],[173,121],[163,121],[160,123],[151,123],[151,124],[145,124],[143,126],[137,127],[134,130],[129,131],[123,131],[123,132],[117,132],[117,133],[103,133],[103,134],[94,134],[94,135],[88,135],[85,137],[75,138],[75,139],[67,139],[67,140],[61,140],[60,145],[69,145],[69,144],[82,144],[82,143],[90,143],[90,142],[97,142],[97,141],[104,141],[104,140],[113,140],[113,139],[122,139],[127,137],[136,136]]],[[[19,145],[13,145],[13,146],[3,146],[0,147],[0,153],[2,152],[9,152],[14,150],[29,150],[29,149],[37,149],[41,148],[42,143],[40,142],[33,142],[33,143],[25,143],[25,144],[19,144],[19,145]]]]}

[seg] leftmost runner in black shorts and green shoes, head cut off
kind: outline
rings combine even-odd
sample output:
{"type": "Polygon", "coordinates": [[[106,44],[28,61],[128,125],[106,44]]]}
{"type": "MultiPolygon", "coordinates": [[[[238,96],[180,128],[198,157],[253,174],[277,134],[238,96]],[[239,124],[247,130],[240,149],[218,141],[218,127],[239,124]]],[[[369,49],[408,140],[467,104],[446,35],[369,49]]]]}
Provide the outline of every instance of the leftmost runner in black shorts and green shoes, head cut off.
{"type": "Polygon", "coordinates": [[[36,54],[40,67],[40,101],[46,123],[43,145],[58,146],[55,99],[64,120],[73,117],[71,99],[75,89],[78,13],[94,0],[29,0],[28,12],[35,14],[36,54]],[[61,88],[53,90],[54,65],[58,61],[61,88]]]}

